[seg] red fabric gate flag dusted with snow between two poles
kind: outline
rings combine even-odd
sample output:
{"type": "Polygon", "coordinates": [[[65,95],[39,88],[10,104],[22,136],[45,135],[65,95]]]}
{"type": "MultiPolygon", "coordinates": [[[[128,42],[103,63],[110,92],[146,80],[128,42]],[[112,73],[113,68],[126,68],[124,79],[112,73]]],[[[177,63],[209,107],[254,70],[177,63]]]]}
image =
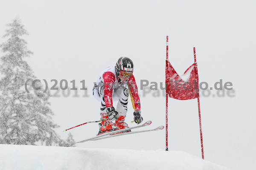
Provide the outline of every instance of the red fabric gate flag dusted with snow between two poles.
{"type": "Polygon", "coordinates": [[[198,88],[198,73],[197,64],[193,63],[183,75],[179,76],[172,64],[166,60],[167,79],[169,83],[167,84],[167,93],[169,97],[178,100],[189,100],[198,98],[199,88],[198,88]]]}

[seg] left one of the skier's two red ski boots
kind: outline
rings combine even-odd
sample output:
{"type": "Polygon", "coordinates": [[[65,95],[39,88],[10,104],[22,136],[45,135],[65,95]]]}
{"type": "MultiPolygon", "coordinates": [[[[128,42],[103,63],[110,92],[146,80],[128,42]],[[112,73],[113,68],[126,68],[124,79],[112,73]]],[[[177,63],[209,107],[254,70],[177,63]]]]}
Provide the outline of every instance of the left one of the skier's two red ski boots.
{"type": "MultiPolygon", "coordinates": [[[[107,113],[101,113],[102,115],[102,120],[108,118],[108,114],[107,113]]],[[[107,132],[111,132],[114,130],[118,130],[118,127],[116,127],[116,125],[109,119],[102,121],[101,123],[99,123],[99,133],[98,135],[102,134],[102,133],[107,133],[107,132]]]]}

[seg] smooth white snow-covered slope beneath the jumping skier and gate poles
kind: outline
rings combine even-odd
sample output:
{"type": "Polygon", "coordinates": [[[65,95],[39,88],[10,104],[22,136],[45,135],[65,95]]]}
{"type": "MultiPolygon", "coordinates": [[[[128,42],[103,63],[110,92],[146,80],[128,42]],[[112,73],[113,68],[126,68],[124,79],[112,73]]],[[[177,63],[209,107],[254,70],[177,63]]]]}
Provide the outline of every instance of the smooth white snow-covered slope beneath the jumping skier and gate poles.
{"type": "Polygon", "coordinates": [[[0,144],[0,170],[228,170],[183,151],[0,144]]]}

